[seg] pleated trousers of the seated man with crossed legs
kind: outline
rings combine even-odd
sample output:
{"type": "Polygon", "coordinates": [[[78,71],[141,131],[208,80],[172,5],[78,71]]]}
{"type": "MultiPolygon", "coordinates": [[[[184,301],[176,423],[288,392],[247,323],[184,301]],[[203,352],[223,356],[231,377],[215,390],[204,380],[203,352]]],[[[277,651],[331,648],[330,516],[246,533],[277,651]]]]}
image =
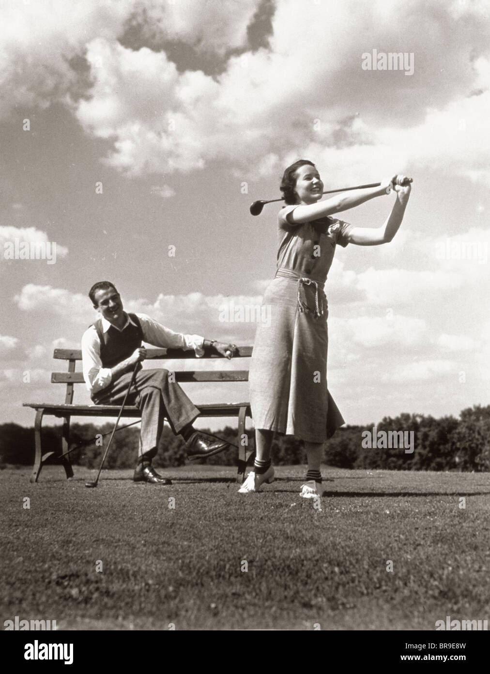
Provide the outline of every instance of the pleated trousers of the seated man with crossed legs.
{"type": "MultiPolygon", "coordinates": [[[[109,386],[94,394],[92,400],[98,405],[122,404],[131,375],[132,372],[127,372],[116,381],[111,381],[109,386]]],[[[157,453],[164,418],[177,435],[199,416],[199,410],[182,388],[175,381],[168,381],[168,370],[164,369],[137,372],[126,404],[137,406],[141,412],[138,456],[146,454],[150,458],[157,453]]]]}

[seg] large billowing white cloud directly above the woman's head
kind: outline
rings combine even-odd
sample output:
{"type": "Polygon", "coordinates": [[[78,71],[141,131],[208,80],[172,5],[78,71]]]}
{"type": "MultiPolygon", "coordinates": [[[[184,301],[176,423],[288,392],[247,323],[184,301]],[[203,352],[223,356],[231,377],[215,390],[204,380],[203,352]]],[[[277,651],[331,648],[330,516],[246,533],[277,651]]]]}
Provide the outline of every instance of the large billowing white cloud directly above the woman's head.
{"type": "Polygon", "coordinates": [[[472,86],[487,80],[487,61],[481,58],[473,65],[468,48],[468,39],[477,53],[487,48],[477,20],[466,20],[464,28],[443,16],[438,22],[433,3],[425,3],[398,16],[401,32],[400,22],[393,22],[382,2],[368,8],[358,3],[333,7],[325,1],[308,9],[293,1],[279,3],[271,50],[230,57],[217,79],[203,72],[179,73],[162,52],[92,40],[88,60],[102,67],[92,67],[92,96],[79,102],[77,117],[95,135],[116,137],[107,161],[129,175],[185,173],[214,158],[241,171],[252,165],[256,175],[271,175],[301,150],[327,167],[328,181],[409,166],[444,171],[451,166],[466,176],[478,170],[478,179],[487,180],[481,169],[486,150],[480,142],[487,94],[468,98],[472,86]],[[433,24],[438,41],[444,42],[441,52],[433,32],[419,32],[424,21],[433,24]],[[363,71],[363,48],[353,24],[371,32],[373,47],[390,41],[397,51],[417,49],[421,63],[415,79],[409,83],[403,73],[373,78],[374,73],[363,71]],[[458,78],[441,80],[448,49],[458,78]],[[414,119],[411,102],[426,96],[427,89],[433,107],[426,116],[419,108],[414,119]],[[155,115],[155,109],[161,112],[155,115]],[[363,111],[363,117],[353,116],[353,110],[363,111]],[[320,122],[315,128],[314,119],[320,122]],[[464,133],[459,131],[461,119],[466,120],[464,133]]]}

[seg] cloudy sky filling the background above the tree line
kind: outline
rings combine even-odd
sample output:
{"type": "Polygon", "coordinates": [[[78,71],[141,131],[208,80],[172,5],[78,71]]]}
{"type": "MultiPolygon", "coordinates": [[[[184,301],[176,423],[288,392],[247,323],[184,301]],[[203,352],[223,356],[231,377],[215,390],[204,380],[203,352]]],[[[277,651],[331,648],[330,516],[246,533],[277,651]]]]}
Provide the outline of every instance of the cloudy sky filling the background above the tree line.
{"type": "MultiPolygon", "coordinates": [[[[328,388],[346,422],[490,404],[489,1],[6,0],[0,13],[0,423],[32,425],[23,402],[63,400],[52,353],[79,348],[98,280],[172,330],[253,344],[254,312],[223,309],[260,304],[275,274],[280,204],[248,208],[279,198],[298,158],[325,189],[413,177],[394,240],[337,247],[328,274],[328,388]],[[22,259],[31,243],[51,259],[22,259]]],[[[340,217],[381,226],[393,200],[340,217]]],[[[246,384],[184,389],[248,400],[246,384]]],[[[83,386],[74,402],[90,402],[83,386]]]]}

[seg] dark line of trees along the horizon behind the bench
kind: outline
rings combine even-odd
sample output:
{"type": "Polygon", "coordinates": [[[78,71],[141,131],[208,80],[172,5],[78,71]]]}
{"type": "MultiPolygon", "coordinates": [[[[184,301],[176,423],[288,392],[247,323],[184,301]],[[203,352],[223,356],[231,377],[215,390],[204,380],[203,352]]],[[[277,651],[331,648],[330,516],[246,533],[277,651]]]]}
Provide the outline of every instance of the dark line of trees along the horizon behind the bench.
{"type": "MultiPolygon", "coordinates": [[[[98,468],[113,424],[102,426],[91,423],[73,423],[71,441],[80,445],[71,452],[73,464],[98,468]],[[107,433],[104,437],[102,435],[107,433]]],[[[215,435],[237,443],[236,429],[226,426],[215,435]]],[[[400,435],[400,437],[402,437],[400,435]]],[[[137,456],[139,427],[129,427],[114,435],[106,459],[108,468],[133,468],[137,456]]],[[[61,454],[61,427],[46,426],[42,430],[44,451],[61,454]]],[[[254,433],[248,430],[243,442],[254,447],[254,433]]],[[[207,464],[236,466],[237,451],[232,448],[206,460],[207,464]]],[[[293,465],[306,462],[302,441],[290,435],[275,435],[273,441],[275,465],[293,465]]],[[[52,461],[52,462],[55,462],[52,461]]],[[[32,465],[34,463],[34,428],[15,423],[0,425],[0,468],[7,464],[32,465]]],[[[182,466],[186,463],[185,443],[166,427],[153,465],[161,468],[182,466]]],[[[402,414],[384,417],[377,424],[347,426],[339,429],[326,442],[323,463],[339,468],[382,468],[388,470],[459,470],[481,472],[490,470],[490,405],[462,410],[458,419],[427,415],[402,414]],[[376,431],[373,431],[376,429],[376,431]],[[384,433],[383,433],[384,431],[384,433]],[[378,435],[392,437],[400,431],[407,436],[413,431],[414,451],[386,446],[386,441],[366,442],[365,438],[378,435]],[[375,445],[375,446],[373,446],[375,445]]]]}

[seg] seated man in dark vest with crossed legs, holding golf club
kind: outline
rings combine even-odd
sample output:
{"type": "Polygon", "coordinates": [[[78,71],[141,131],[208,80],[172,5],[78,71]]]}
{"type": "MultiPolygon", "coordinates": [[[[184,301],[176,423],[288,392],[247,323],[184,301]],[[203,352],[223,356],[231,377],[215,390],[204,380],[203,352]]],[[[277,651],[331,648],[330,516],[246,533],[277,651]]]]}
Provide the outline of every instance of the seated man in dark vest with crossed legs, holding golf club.
{"type": "MultiPolygon", "coordinates": [[[[136,363],[146,358],[141,342],[161,348],[194,349],[202,356],[205,348],[230,359],[236,353],[234,344],[205,340],[199,335],[172,332],[142,313],[127,314],[120,295],[113,283],[100,281],[90,288],[89,297],[100,319],[83,333],[81,357],[83,378],[96,404],[118,405],[127,392],[136,363]]],[[[158,442],[164,427],[164,417],[172,431],[186,441],[188,458],[213,456],[228,449],[228,443],[213,440],[192,427],[199,410],[192,404],[182,388],[169,381],[168,370],[143,370],[138,365],[127,404],[136,405],[141,411],[138,462],[133,479],[151,485],[170,485],[151,466],[157,453],[158,442]]]]}

